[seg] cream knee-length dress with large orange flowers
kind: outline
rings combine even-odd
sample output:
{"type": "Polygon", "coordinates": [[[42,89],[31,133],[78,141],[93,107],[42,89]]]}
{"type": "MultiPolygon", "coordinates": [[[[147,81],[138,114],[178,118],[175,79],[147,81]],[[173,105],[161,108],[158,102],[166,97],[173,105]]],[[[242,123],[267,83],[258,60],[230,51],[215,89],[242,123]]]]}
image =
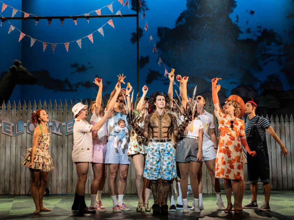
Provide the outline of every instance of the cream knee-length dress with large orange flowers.
{"type": "Polygon", "coordinates": [[[239,135],[245,136],[244,121],[236,118],[231,128],[231,117],[222,113],[219,109],[215,112],[220,130],[218,151],[215,159],[215,177],[243,180],[244,179],[244,155],[239,135]]]}

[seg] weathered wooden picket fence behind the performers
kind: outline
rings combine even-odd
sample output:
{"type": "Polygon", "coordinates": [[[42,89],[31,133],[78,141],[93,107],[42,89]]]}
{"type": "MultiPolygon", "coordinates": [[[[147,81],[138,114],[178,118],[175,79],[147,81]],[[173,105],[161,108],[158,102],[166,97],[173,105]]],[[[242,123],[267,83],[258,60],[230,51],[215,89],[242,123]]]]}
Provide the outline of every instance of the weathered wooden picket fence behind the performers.
{"type": "MultiPolygon", "coordinates": [[[[76,104],[76,101],[75,103],[76,104]]],[[[7,106],[3,102],[1,106],[0,120],[10,121],[12,123],[24,119],[26,123],[27,119],[31,118],[33,111],[43,108],[47,109],[50,122],[52,119],[66,122],[73,119],[71,112],[74,105],[70,101],[68,104],[65,101],[63,104],[61,101],[57,104],[54,100],[53,105],[51,101],[47,105],[39,101],[38,105],[34,101],[33,104],[25,102],[21,105],[18,101],[17,105],[13,102],[12,106],[8,102],[7,106]]],[[[88,104],[88,103],[84,103],[88,104]]],[[[213,107],[210,102],[206,101],[205,110],[213,113],[213,107]]],[[[88,115],[87,121],[91,118],[88,115]]],[[[267,119],[268,116],[266,116],[267,119]]],[[[244,117],[242,118],[244,121],[244,117]]],[[[1,121],[2,122],[2,121],[1,121]]],[[[218,135],[217,120],[215,118],[216,133],[218,135]]],[[[288,157],[283,158],[281,156],[280,146],[275,140],[270,137],[269,133],[266,133],[267,144],[269,149],[270,158],[270,179],[272,181],[272,189],[293,189],[294,186],[294,119],[293,116],[283,118],[270,117],[270,125],[273,127],[277,135],[281,138],[282,142],[288,149],[288,157]]],[[[63,131],[65,125],[63,125],[63,131]]],[[[76,182],[78,180],[76,174],[76,166],[71,160],[71,151],[73,145],[72,134],[57,135],[52,133],[52,126],[50,126],[51,142],[49,150],[52,154],[54,169],[48,174],[47,188],[50,193],[74,193],[76,182]]],[[[0,194],[26,194],[31,185],[29,169],[21,164],[23,156],[27,153],[27,149],[32,146],[32,135],[27,133],[26,127],[24,133],[11,137],[0,133],[0,194]]],[[[203,163],[203,193],[213,193],[213,187],[211,184],[210,175],[206,166],[203,163]]],[[[245,182],[247,181],[247,166],[244,166],[245,170],[245,182]]],[[[88,180],[86,182],[86,193],[90,193],[91,182],[93,180],[93,171],[91,166],[89,167],[88,180]]],[[[117,178],[117,183],[119,176],[117,178]]],[[[223,180],[220,180],[221,188],[223,189],[223,180]]],[[[106,187],[103,193],[109,193],[109,177],[106,179],[106,187]]],[[[261,186],[260,186],[261,187],[261,186]]],[[[249,189],[249,184],[246,184],[246,188],[249,189]]],[[[134,164],[131,163],[128,171],[127,188],[125,193],[136,193],[136,170],[134,164]]]]}

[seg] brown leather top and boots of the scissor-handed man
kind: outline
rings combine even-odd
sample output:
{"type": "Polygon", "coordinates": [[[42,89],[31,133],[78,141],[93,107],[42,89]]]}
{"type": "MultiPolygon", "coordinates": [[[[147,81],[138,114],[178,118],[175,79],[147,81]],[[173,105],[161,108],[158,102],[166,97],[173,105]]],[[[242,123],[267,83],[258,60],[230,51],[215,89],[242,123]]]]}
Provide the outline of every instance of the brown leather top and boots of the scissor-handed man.
{"type": "MultiPolygon", "coordinates": [[[[171,139],[172,136],[177,137],[179,133],[183,134],[187,125],[187,121],[178,125],[177,117],[172,113],[168,113],[165,109],[161,115],[157,111],[147,115],[144,121],[144,128],[134,124],[133,129],[135,129],[137,135],[147,137],[148,139],[171,139]]],[[[152,206],[153,214],[158,214],[160,211],[167,214],[167,199],[170,184],[171,182],[169,180],[162,180],[161,185],[158,180],[150,180],[150,187],[154,199],[152,206]],[[160,191],[162,193],[161,207],[159,206],[160,191]]]]}

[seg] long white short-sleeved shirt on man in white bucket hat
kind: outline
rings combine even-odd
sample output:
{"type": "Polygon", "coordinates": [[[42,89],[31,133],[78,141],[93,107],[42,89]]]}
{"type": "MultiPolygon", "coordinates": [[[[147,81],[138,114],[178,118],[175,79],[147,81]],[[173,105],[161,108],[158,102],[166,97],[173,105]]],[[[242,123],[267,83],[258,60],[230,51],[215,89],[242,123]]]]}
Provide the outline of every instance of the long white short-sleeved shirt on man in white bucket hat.
{"type": "Polygon", "coordinates": [[[75,119],[73,127],[74,146],[71,158],[73,162],[92,162],[92,132],[87,121],[75,119]]]}

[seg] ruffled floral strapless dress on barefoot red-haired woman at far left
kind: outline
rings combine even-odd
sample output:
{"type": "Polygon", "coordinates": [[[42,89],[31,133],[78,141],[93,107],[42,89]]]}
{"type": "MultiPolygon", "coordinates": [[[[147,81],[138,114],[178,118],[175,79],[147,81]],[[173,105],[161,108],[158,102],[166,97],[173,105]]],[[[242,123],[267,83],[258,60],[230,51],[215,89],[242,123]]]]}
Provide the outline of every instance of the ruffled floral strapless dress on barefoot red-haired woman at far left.
{"type": "MultiPolygon", "coordinates": [[[[54,168],[53,160],[52,160],[50,151],[48,149],[50,145],[51,134],[50,133],[43,134],[41,125],[39,126],[41,129],[41,135],[38,138],[33,165],[30,168],[38,170],[40,172],[48,172],[54,168]]],[[[28,153],[24,155],[24,160],[22,162],[24,166],[30,163],[31,151],[32,151],[32,148],[29,148],[28,153]]]]}

